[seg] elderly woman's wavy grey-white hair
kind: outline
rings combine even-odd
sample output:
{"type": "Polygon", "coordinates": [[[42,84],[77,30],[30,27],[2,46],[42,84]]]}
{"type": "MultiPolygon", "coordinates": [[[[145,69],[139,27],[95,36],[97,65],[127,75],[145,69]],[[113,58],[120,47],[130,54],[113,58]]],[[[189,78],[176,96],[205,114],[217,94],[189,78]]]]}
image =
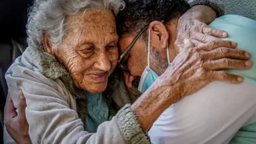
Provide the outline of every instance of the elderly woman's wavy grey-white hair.
{"type": "Polygon", "coordinates": [[[43,48],[43,33],[49,43],[58,45],[65,34],[66,18],[80,10],[112,10],[114,15],[124,9],[122,0],[35,0],[27,24],[28,45],[43,48]]]}

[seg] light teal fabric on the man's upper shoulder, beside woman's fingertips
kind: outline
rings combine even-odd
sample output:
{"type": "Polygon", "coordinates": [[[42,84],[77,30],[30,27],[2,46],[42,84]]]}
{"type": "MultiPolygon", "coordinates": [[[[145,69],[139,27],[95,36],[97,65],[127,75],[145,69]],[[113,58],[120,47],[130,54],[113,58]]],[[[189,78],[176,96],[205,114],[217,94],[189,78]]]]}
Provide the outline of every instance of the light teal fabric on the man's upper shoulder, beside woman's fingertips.
{"type": "MultiPolygon", "coordinates": [[[[251,62],[256,63],[256,21],[243,16],[226,15],[214,20],[210,25],[215,29],[223,29],[229,37],[225,40],[238,43],[238,49],[251,54],[251,62]]],[[[245,82],[256,85],[256,64],[249,70],[228,70],[228,73],[244,77],[245,82]]]]}

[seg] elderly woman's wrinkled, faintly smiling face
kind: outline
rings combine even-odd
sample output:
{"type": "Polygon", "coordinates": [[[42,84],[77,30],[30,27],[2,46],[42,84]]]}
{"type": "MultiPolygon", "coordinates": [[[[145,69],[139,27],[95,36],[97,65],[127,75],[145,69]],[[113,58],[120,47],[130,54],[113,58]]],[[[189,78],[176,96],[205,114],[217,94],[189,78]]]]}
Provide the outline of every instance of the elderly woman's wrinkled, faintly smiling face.
{"type": "Polygon", "coordinates": [[[77,88],[98,93],[106,89],[118,60],[116,24],[110,10],[87,10],[67,18],[62,43],[54,56],[68,69],[77,88]]]}

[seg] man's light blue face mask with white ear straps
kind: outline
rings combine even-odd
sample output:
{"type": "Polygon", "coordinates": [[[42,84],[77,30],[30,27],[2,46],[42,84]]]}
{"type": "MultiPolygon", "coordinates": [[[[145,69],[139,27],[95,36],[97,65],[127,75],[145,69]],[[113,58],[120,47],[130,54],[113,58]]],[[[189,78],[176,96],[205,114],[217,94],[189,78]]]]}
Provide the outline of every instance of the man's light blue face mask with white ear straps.
{"type": "MultiPolygon", "coordinates": [[[[170,66],[170,58],[169,58],[169,50],[168,50],[168,44],[167,44],[167,59],[170,66]]],[[[140,77],[139,87],[138,90],[143,93],[145,92],[151,84],[158,79],[158,74],[156,74],[151,68],[150,68],[150,30],[148,32],[148,65],[144,69],[144,72],[142,73],[142,76],[140,77]]]]}

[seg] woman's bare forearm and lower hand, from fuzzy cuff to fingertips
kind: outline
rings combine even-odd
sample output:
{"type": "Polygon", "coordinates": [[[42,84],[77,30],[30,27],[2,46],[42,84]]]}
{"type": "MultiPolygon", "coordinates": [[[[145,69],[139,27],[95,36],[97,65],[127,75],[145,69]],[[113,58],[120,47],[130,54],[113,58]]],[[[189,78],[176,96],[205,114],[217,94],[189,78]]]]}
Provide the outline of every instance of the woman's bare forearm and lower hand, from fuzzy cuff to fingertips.
{"type": "Polygon", "coordinates": [[[171,67],[168,67],[131,107],[142,130],[146,132],[167,107],[200,90],[211,81],[242,82],[242,77],[220,71],[251,67],[251,62],[247,61],[250,55],[244,50],[235,49],[236,46],[237,44],[231,41],[194,46],[192,41],[186,40],[182,52],[175,58],[171,67]]]}

